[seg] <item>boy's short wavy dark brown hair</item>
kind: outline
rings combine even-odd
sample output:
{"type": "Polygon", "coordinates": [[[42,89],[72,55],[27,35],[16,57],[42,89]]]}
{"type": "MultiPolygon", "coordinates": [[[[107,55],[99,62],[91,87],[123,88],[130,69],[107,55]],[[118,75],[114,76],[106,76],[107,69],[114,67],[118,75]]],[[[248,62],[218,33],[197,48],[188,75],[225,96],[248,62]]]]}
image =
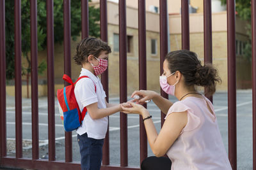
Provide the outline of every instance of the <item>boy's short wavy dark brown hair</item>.
{"type": "Polygon", "coordinates": [[[93,55],[98,58],[102,51],[111,53],[111,48],[108,46],[108,43],[97,38],[84,38],[77,44],[76,55],[73,59],[77,65],[82,65],[84,62],[88,62],[89,55],[93,55]]]}

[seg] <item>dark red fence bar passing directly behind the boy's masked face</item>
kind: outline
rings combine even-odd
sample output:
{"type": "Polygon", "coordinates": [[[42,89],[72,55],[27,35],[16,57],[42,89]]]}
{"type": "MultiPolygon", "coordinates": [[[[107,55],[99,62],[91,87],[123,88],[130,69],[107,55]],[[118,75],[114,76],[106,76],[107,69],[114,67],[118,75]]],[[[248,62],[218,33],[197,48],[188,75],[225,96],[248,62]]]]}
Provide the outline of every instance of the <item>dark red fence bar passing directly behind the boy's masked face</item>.
{"type": "MultiPolygon", "coordinates": [[[[108,4],[107,0],[100,0],[100,38],[102,41],[108,42],[108,4]]],[[[101,83],[106,92],[106,100],[109,102],[108,92],[108,69],[101,75],[101,83]]],[[[103,145],[102,164],[109,165],[109,125],[103,145]]]]}

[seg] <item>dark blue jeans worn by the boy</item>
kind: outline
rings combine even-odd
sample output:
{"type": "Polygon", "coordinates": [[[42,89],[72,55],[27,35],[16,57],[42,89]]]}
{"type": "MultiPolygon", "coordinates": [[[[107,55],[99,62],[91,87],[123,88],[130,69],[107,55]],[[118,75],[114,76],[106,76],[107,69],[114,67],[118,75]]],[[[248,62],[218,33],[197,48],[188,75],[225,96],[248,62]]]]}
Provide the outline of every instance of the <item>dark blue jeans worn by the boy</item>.
{"type": "Polygon", "coordinates": [[[77,134],[82,170],[100,170],[104,139],[88,138],[87,133],[77,134]]]}

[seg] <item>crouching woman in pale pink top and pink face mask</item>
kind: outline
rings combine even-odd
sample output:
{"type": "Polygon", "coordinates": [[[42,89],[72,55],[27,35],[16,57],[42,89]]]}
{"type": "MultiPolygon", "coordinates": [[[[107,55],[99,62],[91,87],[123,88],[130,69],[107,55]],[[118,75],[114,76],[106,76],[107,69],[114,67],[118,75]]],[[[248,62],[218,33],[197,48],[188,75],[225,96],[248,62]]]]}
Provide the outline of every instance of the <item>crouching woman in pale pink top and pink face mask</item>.
{"type": "Polygon", "coordinates": [[[216,69],[210,64],[202,66],[194,52],[178,50],[166,55],[160,85],[179,101],[172,103],[156,92],[140,90],[132,94],[140,96],[138,104],[122,106],[124,113],[143,117],[148,143],[156,155],[145,159],[141,169],[232,169],[212,103],[196,91],[196,86],[207,87],[212,95],[220,81],[216,69]],[[166,114],[159,134],[150,113],[140,105],[150,99],[166,114]],[[165,154],[172,163],[162,157],[165,154]]]}

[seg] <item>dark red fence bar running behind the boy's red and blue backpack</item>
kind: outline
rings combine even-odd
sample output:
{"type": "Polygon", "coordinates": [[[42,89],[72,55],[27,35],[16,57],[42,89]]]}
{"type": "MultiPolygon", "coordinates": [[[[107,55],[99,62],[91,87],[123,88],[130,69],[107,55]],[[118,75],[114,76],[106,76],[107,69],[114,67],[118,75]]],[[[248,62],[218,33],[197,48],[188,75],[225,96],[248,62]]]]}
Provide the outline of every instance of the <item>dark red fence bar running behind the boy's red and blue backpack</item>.
{"type": "MultiPolygon", "coordinates": [[[[64,25],[64,73],[71,77],[71,52],[70,52],[70,0],[63,0],[63,25],[64,25]]],[[[69,83],[65,82],[65,86],[69,83]]],[[[65,161],[72,162],[72,132],[65,132],[65,161]]]]}

